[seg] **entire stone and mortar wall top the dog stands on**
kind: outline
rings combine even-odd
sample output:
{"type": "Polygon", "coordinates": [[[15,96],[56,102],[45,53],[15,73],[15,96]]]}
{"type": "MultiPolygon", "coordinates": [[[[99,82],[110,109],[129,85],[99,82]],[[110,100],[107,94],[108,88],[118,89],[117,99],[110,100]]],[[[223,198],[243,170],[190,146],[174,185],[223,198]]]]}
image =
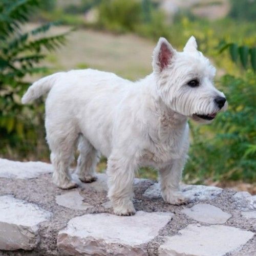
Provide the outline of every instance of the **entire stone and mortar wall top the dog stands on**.
{"type": "Polygon", "coordinates": [[[188,248],[184,242],[188,234],[193,244],[182,255],[202,255],[201,247],[209,250],[207,255],[226,251],[231,256],[256,255],[254,196],[248,193],[182,185],[191,200],[177,206],[162,200],[154,181],[135,179],[136,215],[118,217],[107,197],[105,174],[97,174],[93,183],[82,183],[73,174],[79,186],[62,190],[52,183],[51,172],[50,164],[0,159],[0,255],[86,255],[95,250],[100,255],[150,256],[175,250],[171,255],[179,255],[183,252],[168,240],[176,239],[182,249],[188,248]],[[226,222],[212,225],[216,221],[226,222]],[[187,231],[182,234],[183,230],[187,231]]]}

